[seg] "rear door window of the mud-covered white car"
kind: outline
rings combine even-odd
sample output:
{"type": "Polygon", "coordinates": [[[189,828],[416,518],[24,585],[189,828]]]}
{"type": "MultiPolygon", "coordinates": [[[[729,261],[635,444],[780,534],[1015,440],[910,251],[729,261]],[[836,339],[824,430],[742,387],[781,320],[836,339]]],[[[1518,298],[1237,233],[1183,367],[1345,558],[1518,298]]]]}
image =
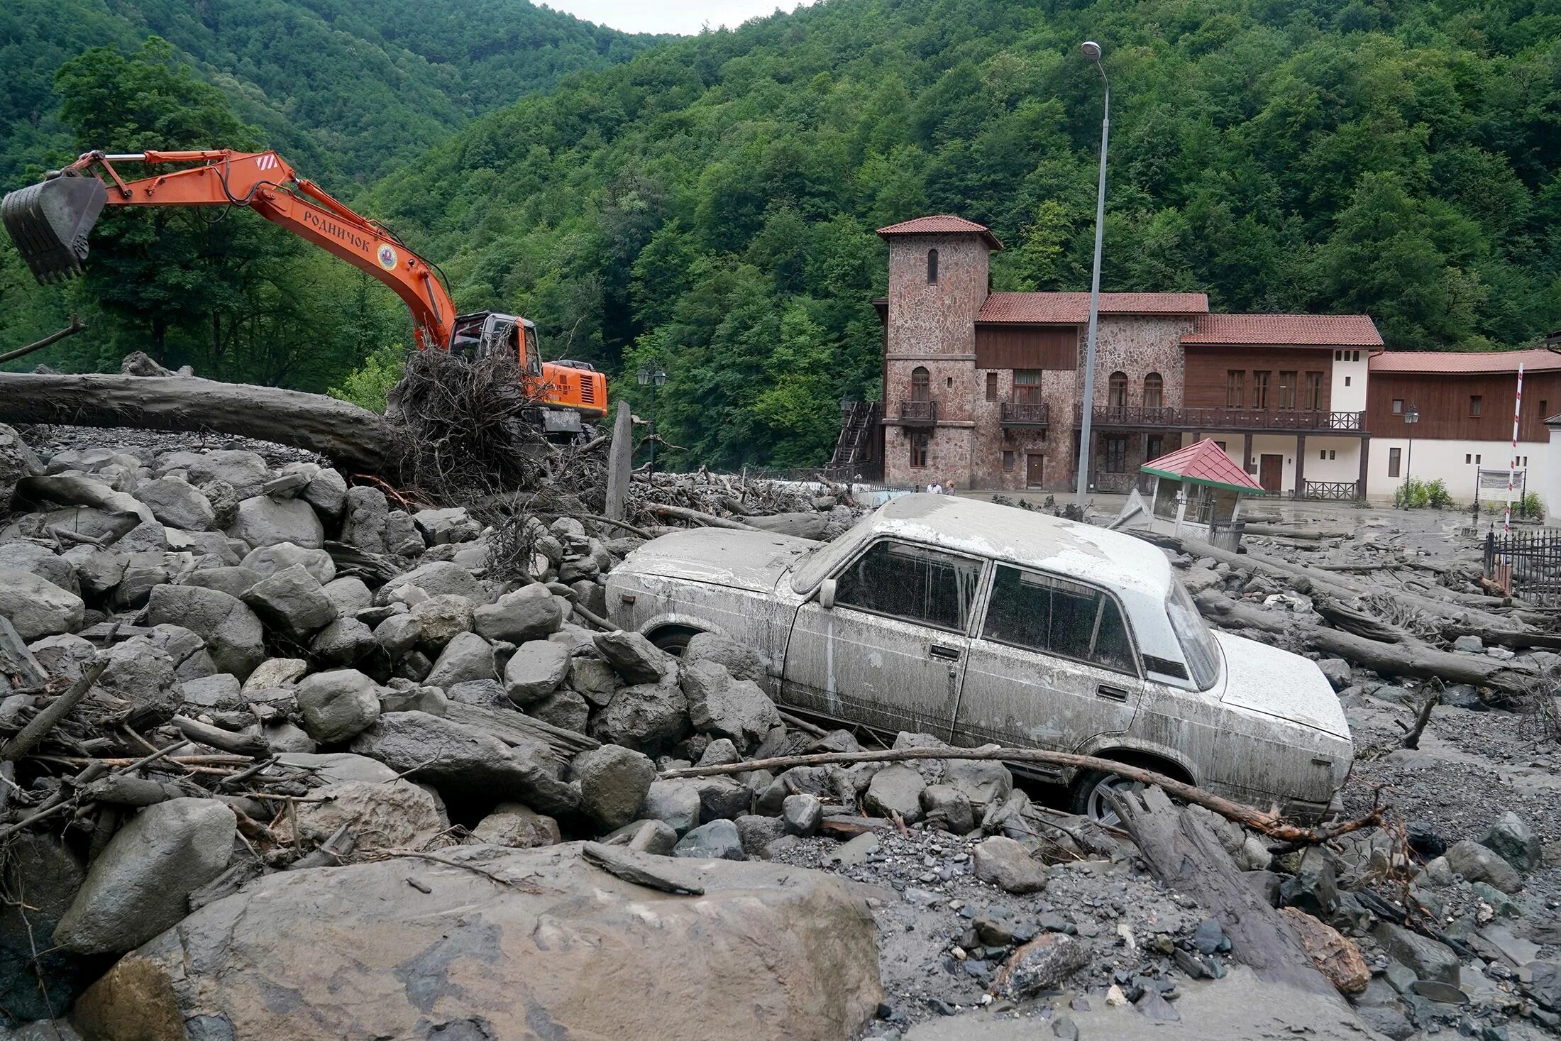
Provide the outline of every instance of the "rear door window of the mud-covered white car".
{"type": "Polygon", "coordinates": [[[982,637],[1136,673],[1133,641],[1116,601],[1051,574],[997,565],[982,637]]]}

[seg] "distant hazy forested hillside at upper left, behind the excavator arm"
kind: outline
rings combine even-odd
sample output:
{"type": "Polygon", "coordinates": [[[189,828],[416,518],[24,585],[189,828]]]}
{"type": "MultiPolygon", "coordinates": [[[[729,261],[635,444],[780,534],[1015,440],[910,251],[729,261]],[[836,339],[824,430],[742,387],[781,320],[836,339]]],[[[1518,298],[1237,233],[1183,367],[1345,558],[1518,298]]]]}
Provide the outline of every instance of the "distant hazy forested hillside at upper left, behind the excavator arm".
{"type": "Polygon", "coordinates": [[[0,183],[70,145],[53,86],[64,61],[98,45],[131,50],[150,34],[326,181],[407,164],[473,115],[656,39],[528,0],[6,0],[0,183]]]}

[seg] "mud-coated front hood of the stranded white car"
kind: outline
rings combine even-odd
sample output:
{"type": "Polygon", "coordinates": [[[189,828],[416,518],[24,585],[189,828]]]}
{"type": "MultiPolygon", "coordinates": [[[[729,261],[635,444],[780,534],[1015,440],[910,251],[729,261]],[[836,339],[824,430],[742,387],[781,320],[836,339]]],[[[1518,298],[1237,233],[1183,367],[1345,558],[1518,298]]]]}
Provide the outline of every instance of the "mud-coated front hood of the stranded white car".
{"type": "Polygon", "coordinates": [[[629,573],[766,592],[798,557],[818,545],[762,531],[695,528],[652,538],[621,567],[629,573]]]}

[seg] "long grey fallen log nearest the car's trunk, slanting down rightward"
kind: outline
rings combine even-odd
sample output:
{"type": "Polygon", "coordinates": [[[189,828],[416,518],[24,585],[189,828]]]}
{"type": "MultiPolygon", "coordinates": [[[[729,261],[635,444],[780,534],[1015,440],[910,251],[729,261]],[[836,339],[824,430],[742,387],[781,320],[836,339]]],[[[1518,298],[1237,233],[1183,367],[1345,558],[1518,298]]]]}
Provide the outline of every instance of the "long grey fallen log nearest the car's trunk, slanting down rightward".
{"type": "Polygon", "coordinates": [[[1357,637],[1341,629],[1308,624],[1294,615],[1238,604],[1213,590],[1204,590],[1194,599],[1205,618],[1211,618],[1222,626],[1260,629],[1263,632],[1294,637],[1324,654],[1335,654],[1383,676],[1436,677],[1444,684],[1474,684],[1475,687],[1494,687],[1508,693],[1522,693],[1527,680],[1531,679],[1531,674],[1514,670],[1495,659],[1438,651],[1413,638],[1400,643],[1367,640],[1366,637],[1357,637]]]}

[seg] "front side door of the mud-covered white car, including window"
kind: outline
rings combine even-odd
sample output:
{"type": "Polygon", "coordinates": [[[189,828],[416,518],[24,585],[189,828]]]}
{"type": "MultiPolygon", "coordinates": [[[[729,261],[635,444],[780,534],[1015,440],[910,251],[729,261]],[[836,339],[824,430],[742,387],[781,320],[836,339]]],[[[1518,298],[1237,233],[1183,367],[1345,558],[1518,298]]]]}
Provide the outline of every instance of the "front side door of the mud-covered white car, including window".
{"type": "Polygon", "coordinates": [[[948,738],[985,560],[918,543],[869,543],[834,576],[834,604],[802,604],[782,699],[890,734],[948,738]]]}

